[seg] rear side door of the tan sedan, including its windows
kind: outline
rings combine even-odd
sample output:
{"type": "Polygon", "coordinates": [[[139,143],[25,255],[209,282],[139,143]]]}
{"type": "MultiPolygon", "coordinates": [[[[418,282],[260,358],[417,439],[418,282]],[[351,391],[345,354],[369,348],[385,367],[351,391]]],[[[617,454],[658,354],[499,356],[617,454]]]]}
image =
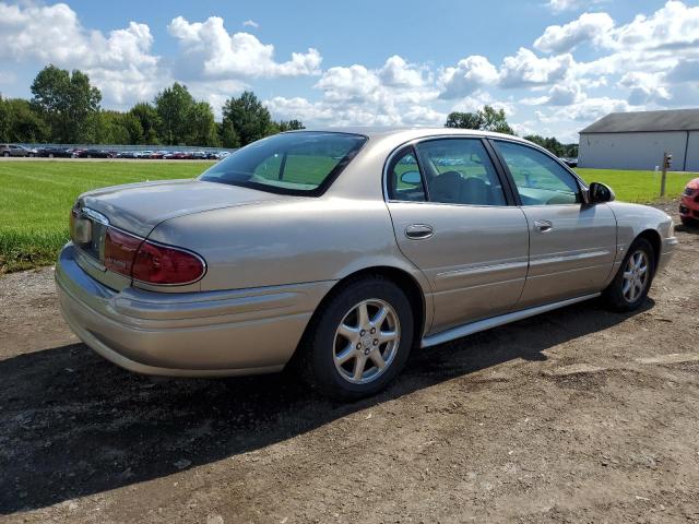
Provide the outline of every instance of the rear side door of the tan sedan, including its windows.
{"type": "Polygon", "coordinates": [[[528,224],[477,138],[431,139],[387,165],[403,254],[433,287],[431,332],[510,311],[526,277],[528,224]]]}

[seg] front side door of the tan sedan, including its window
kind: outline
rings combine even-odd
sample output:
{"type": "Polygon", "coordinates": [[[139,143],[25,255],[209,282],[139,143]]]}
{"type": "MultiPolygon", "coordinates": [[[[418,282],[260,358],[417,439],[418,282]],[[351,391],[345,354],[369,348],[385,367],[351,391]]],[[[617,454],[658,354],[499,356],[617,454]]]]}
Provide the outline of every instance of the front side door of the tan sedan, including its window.
{"type": "Polygon", "coordinates": [[[616,218],[584,203],[579,180],[550,155],[495,140],[530,230],[530,266],[519,308],[602,290],[616,255],[616,218]]]}

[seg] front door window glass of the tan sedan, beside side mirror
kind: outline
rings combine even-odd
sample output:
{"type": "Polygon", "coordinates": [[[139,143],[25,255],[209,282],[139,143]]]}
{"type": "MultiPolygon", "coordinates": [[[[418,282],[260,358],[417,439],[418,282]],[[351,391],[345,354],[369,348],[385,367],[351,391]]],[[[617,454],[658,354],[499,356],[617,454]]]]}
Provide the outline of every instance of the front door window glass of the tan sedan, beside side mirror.
{"type": "Polygon", "coordinates": [[[574,177],[548,155],[526,145],[496,142],[512,174],[523,205],[582,202],[574,177]]]}

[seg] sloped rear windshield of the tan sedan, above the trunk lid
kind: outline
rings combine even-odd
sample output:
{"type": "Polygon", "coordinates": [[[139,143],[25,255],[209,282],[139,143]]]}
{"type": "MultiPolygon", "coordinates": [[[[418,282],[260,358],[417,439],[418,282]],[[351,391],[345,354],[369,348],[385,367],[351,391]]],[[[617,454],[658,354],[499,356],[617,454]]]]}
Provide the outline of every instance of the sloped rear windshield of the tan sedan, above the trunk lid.
{"type": "Polygon", "coordinates": [[[348,133],[275,134],[236,151],[199,179],[274,193],[317,195],[328,189],[366,141],[348,133]]]}

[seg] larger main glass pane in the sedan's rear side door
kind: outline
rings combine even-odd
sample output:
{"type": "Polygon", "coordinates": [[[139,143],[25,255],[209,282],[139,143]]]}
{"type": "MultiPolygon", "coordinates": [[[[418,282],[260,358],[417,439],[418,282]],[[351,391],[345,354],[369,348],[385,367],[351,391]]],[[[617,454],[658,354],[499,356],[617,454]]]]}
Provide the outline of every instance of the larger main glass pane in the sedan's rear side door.
{"type": "Polygon", "coordinates": [[[506,205],[500,179],[478,139],[441,139],[416,145],[430,202],[506,205]]]}

